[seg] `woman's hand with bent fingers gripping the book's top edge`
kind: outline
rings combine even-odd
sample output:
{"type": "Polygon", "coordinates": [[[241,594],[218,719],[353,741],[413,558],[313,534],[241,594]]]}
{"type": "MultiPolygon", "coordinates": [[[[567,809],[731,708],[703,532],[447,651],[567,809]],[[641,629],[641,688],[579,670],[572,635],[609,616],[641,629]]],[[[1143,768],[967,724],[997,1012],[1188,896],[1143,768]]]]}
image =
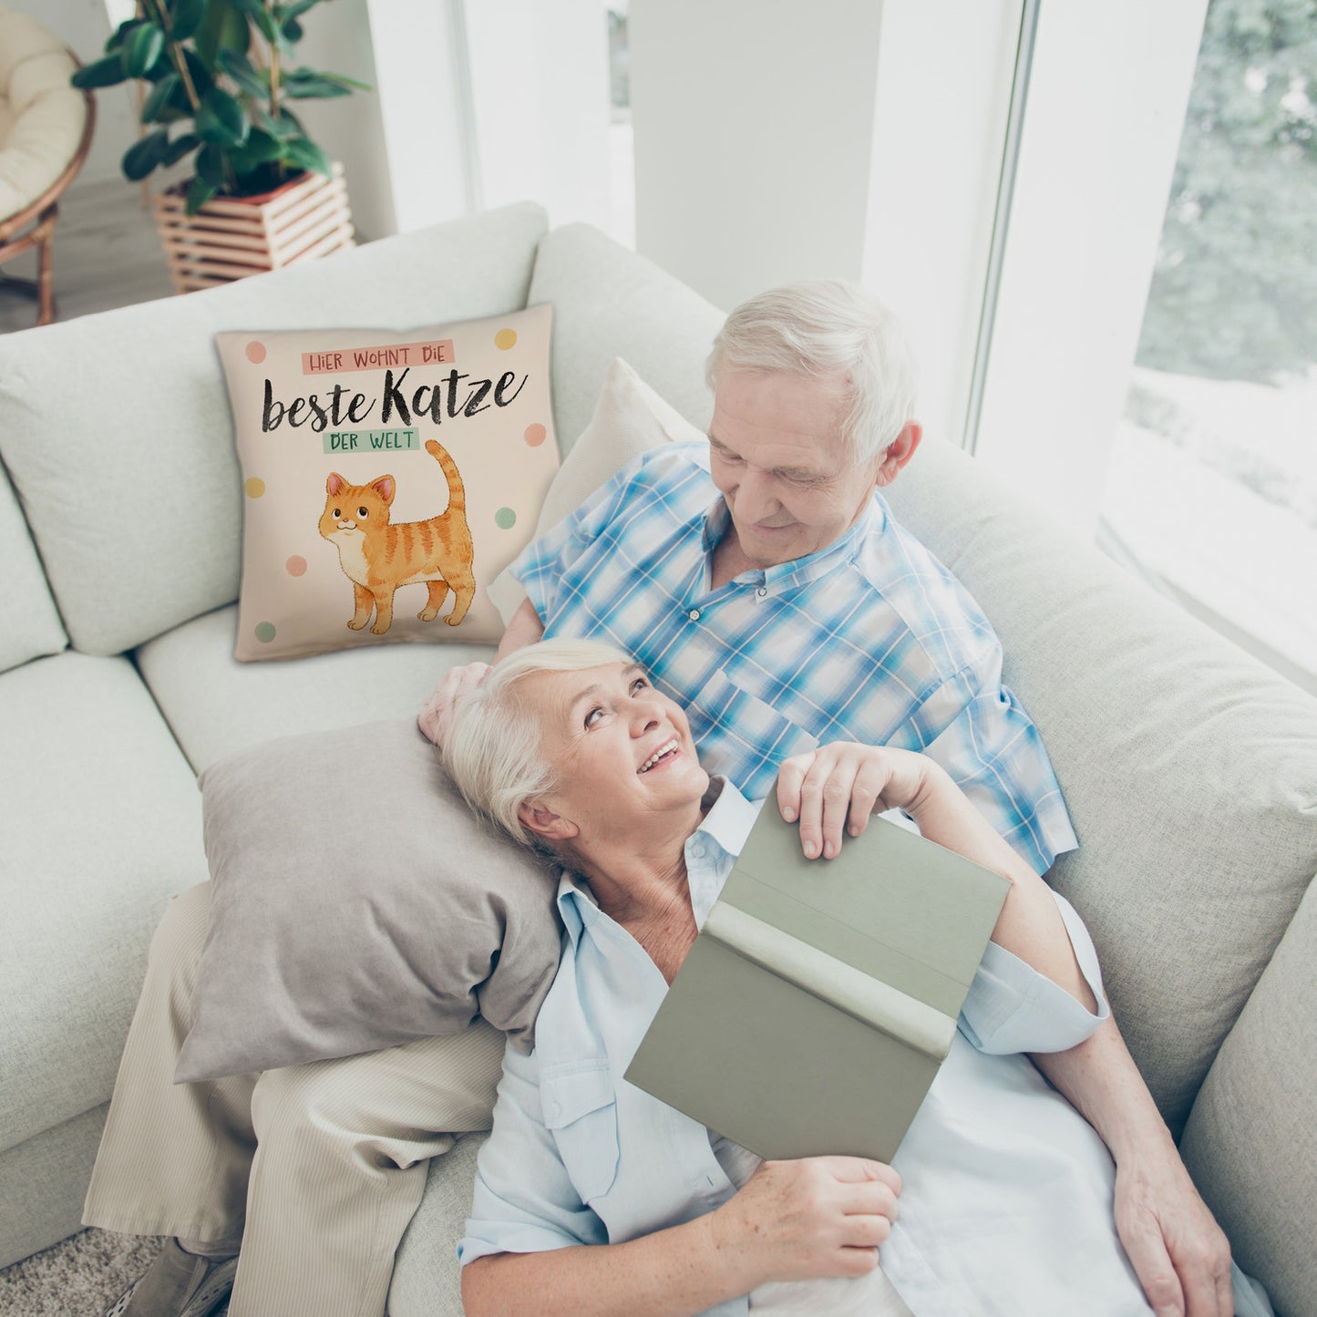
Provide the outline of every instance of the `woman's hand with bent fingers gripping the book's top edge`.
{"type": "Polygon", "coordinates": [[[942,772],[913,751],[834,741],[782,764],[777,806],[788,823],[801,820],[805,855],[831,860],[842,849],[843,831],[859,836],[869,815],[882,810],[914,813],[942,772]]]}

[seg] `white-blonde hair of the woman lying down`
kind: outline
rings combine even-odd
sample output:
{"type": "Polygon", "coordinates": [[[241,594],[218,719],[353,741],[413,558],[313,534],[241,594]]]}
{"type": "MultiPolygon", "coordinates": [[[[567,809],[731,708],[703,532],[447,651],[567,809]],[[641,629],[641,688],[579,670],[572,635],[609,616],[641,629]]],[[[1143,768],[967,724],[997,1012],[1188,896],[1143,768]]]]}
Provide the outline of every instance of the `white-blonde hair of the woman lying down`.
{"type": "Polygon", "coordinates": [[[524,846],[543,848],[518,810],[552,792],[556,777],[544,757],[540,718],[518,686],[537,672],[581,672],[631,661],[602,640],[541,640],[497,664],[453,706],[444,739],[444,766],[466,803],[524,846]]]}

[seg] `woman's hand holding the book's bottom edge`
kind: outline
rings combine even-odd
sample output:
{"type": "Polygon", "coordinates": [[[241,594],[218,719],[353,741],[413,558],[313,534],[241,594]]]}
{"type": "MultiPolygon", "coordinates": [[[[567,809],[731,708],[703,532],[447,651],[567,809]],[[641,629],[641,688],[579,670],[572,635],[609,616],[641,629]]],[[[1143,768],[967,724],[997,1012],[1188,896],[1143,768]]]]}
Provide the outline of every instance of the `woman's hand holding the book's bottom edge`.
{"type": "Polygon", "coordinates": [[[714,1246],[748,1288],[766,1280],[863,1276],[897,1218],[901,1176],[882,1162],[764,1162],[710,1218],[714,1246]]]}

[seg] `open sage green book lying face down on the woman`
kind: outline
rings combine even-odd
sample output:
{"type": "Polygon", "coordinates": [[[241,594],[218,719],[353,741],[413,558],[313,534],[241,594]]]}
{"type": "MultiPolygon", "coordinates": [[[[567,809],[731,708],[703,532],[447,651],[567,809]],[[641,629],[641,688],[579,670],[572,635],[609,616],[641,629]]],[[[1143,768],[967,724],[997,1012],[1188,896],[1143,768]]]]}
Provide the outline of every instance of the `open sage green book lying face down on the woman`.
{"type": "Polygon", "coordinates": [[[626,1077],[763,1158],[890,1162],[1009,890],[882,818],[806,860],[770,798],[626,1077]]]}

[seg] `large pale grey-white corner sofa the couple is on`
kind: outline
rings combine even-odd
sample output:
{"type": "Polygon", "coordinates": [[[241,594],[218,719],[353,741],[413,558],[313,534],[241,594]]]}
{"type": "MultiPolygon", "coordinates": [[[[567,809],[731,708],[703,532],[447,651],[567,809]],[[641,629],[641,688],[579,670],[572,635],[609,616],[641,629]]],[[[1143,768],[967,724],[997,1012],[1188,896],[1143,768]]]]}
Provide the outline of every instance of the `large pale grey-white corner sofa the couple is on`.
{"type": "MultiPolygon", "coordinates": [[[[241,498],[212,335],[529,302],[556,307],[564,450],[614,356],[707,420],[720,313],[593,229],[547,233],[533,205],[0,338],[0,1264],[78,1229],[148,938],[205,877],[195,773],[406,715],[483,653],[232,658],[241,498]]],[[[1081,840],[1052,880],[1185,1160],[1277,1310],[1317,1312],[1317,702],[936,437],[890,494],[1002,637],[1081,840]]],[[[478,1143],[431,1168],[398,1317],[461,1310],[478,1143]]]]}

